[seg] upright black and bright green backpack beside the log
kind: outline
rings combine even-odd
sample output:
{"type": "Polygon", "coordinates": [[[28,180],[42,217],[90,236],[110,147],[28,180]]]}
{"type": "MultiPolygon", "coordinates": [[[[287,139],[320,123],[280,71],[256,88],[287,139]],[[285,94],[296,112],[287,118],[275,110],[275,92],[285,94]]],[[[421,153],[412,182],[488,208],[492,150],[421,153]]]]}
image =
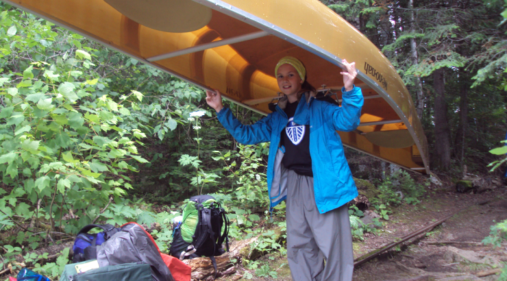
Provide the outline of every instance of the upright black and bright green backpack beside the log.
{"type": "Polygon", "coordinates": [[[183,208],[182,221],[173,231],[173,243],[169,254],[184,260],[208,256],[213,263],[215,276],[217,262],[214,256],[229,252],[229,219],[221,204],[210,195],[198,195],[190,198],[183,208]],[[222,232],[223,230],[223,232],[222,232]]]}

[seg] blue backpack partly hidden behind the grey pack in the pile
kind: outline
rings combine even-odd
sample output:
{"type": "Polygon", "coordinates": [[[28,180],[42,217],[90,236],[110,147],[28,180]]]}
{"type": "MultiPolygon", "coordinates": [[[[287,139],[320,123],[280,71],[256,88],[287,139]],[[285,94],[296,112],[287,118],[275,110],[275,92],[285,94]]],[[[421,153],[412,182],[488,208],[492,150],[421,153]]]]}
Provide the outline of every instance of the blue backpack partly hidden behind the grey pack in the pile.
{"type": "Polygon", "coordinates": [[[83,262],[97,258],[97,245],[102,245],[121,228],[115,228],[110,224],[89,224],[77,233],[72,250],[74,252],[72,262],[83,262]],[[93,228],[101,228],[102,232],[88,234],[93,228]]]}

